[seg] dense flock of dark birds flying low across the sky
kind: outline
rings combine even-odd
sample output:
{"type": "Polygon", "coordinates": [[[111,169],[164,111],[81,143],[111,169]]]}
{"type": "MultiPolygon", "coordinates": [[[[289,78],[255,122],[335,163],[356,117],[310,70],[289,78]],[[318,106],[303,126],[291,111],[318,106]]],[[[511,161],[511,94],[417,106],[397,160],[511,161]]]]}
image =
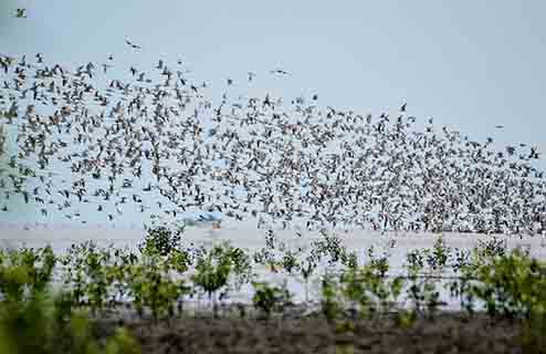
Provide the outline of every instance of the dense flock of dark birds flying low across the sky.
{"type": "Polygon", "coordinates": [[[546,230],[536,147],[498,150],[432,118],[418,128],[406,104],[374,116],[323,107],[316,94],[237,95],[233,79],[214,103],[181,61],[124,79],[108,76],[113,63],[71,71],[41,54],[0,56],[0,124],[17,143],[0,173],[2,212],[18,199],[81,222],[86,210],[115,221],[132,209],[259,228],[546,230]]]}

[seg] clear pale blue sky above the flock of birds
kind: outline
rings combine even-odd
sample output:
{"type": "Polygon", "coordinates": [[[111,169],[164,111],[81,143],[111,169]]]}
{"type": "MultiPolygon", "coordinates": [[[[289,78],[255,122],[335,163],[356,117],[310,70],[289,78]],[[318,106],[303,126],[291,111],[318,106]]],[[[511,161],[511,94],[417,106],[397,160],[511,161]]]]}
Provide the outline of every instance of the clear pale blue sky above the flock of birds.
{"type": "Polygon", "coordinates": [[[210,81],[282,67],[290,94],[374,114],[407,101],[418,119],[546,154],[545,1],[1,1],[6,18],[28,8],[0,23],[3,54],[75,65],[112,53],[143,69],[181,58],[210,81]]]}

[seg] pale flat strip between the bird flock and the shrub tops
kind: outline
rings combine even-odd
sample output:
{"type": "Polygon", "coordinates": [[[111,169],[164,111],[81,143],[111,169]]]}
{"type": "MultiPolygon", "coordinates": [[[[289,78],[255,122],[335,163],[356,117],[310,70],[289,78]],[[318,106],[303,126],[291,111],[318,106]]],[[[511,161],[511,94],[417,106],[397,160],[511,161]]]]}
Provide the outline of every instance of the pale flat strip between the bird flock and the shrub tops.
{"type": "MultiPolygon", "coordinates": [[[[240,229],[212,229],[210,226],[188,227],[183,233],[186,242],[208,243],[217,240],[230,240],[233,244],[255,250],[264,246],[265,230],[252,228],[240,229]]],[[[438,233],[385,233],[366,230],[336,231],[344,244],[353,250],[367,249],[370,246],[382,247],[389,240],[396,241],[392,257],[403,256],[409,250],[416,248],[432,247],[438,239],[438,233]]],[[[143,239],[145,231],[140,229],[112,229],[112,228],[34,228],[34,229],[10,229],[0,228],[0,244],[27,244],[28,247],[42,247],[51,244],[56,251],[87,240],[94,240],[98,244],[115,244],[117,247],[134,248],[143,239]]],[[[318,231],[277,230],[275,236],[286,241],[288,244],[298,246],[308,243],[313,239],[318,239],[318,231]],[[296,232],[298,232],[297,236],[296,232]]],[[[443,233],[447,244],[452,248],[470,249],[480,240],[491,239],[493,236],[474,233],[443,233]]],[[[546,259],[546,238],[543,236],[523,237],[496,236],[506,240],[508,248],[517,246],[526,247],[531,254],[540,259],[546,259]]]]}

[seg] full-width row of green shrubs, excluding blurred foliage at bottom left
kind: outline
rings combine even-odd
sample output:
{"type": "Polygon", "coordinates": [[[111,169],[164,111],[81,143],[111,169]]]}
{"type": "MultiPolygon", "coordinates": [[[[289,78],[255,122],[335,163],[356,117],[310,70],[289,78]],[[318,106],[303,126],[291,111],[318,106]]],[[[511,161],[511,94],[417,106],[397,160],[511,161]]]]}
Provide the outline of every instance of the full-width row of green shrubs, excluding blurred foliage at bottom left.
{"type": "Polygon", "coordinates": [[[544,341],[546,263],[528,251],[508,250],[497,239],[458,250],[439,238],[430,249],[410,251],[403,270],[392,272],[395,247],[389,242],[382,252],[370,247],[359,254],[326,232],[305,247],[290,247],[270,232],[265,247],[251,254],[230,242],[186,247],[181,230],[159,227],[148,230],[138,251],[93,242],[73,246],[64,256],[51,248],[0,250],[0,296],[2,303],[18,303],[57,289],[69,308],[94,316],[127,306],[159,319],[183,315],[185,301],[203,296],[218,315],[218,302],[246,287],[259,313],[271,316],[294,299],[286,282],[261,279],[269,269],[303,281],[309,308],[315,280],[317,310],[329,321],[393,315],[401,326],[411,326],[454,299],[468,315],[485,311],[493,319],[523,320],[529,337],[544,341]],[[317,269],[324,272],[315,274],[317,269]]]}

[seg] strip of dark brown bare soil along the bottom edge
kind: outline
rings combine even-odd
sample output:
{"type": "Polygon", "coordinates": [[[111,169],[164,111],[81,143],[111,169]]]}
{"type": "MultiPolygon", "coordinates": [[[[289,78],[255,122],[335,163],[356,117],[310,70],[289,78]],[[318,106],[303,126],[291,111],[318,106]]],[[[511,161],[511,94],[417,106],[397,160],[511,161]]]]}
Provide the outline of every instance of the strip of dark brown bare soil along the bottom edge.
{"type": "MultiPolygon", "coordinates": [[[[517,321],[453,313],[401,329],[392,319],[138,320],[124,325],[143,353],[524,353],[517,321]]],[[[103,326],[107,327],[106,326],[103,326]]],[[[109,331],[106,331],[109,332],[109,331]]],[[[545,334],[546,335],[546,334],[545,334]]],[[[533,351],[540,353],[540,351],[533,351]]]]}

